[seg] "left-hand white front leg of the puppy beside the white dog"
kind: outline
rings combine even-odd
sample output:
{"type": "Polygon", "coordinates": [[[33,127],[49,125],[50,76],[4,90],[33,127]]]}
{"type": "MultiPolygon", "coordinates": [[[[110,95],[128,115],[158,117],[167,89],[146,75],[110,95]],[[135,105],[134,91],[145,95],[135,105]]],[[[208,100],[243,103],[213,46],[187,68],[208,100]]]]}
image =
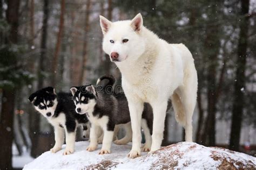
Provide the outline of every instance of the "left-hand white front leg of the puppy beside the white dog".
{"type": "Polygon", "coordinates": [[[86,148],[87,151],[95,151],[98,145],[98,132],[99,131],[99,126],[95,124],[91,124],[91,129],[90,129],[90,144],[86,148]]]}

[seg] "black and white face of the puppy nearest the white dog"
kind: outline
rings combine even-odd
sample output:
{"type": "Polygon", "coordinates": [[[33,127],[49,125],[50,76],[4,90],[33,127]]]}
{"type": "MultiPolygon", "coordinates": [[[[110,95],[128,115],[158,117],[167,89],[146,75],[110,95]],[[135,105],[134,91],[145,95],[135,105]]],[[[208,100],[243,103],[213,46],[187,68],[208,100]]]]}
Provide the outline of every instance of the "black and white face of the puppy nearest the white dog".
{"type": "Polygon", "coordinates": [[[71,87],[70,91],[73,95],[73,101],[75,102],[78,114],[83,115],[93,111],[97,99],[95,87],[92,85],[71,87]]]}

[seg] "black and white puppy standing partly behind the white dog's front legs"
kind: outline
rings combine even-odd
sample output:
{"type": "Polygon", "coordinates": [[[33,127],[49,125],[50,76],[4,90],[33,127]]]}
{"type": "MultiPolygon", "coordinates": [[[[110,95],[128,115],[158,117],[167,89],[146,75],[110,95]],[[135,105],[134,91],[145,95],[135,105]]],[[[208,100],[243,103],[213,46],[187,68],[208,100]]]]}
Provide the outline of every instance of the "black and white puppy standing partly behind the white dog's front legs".
{"type": "MultiPolygon", "coordinates": [[[[110,153],[115,126],[131,122],[128,102],[124,93],[110,93],[111,90],[96,89],[93,85],[71,87],[70,90],[77,113],[86,114],[91,122],[90,145],[87,147],[87,151],[96,150],[98,129],[102,128],[104,137],[99,154],[110,153]]],[[[153,114],[152,108],[149,107],[149,104],[145,104],[142,121],[146,137],[144,145],[146,148],[143,149],[145,151],[149,151],[151,147],[150,131],[152,131],[153,114]]]]}

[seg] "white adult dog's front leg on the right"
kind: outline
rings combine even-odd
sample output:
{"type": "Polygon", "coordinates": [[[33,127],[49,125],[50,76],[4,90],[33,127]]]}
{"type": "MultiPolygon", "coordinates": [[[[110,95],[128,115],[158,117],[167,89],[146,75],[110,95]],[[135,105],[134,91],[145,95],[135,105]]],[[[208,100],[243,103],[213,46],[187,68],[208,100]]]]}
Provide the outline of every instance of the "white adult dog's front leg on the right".
{"type": "Polygon", "coordinates": [[[151,103],[153,108],[153,133],[150,153],[160,148],[164,138],[164,122],[167,109],[167,101],[151,103]]]}

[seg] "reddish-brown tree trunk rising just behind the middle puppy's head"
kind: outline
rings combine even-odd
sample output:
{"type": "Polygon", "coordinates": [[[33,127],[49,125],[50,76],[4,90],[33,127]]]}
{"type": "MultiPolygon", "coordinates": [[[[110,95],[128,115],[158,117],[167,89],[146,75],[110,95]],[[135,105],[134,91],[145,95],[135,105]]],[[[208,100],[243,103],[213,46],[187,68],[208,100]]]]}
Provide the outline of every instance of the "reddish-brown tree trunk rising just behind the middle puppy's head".
{"type": "Polygon", "coordinates": [[[83,60],[82,60],[82,72],[80,74],[79,84],[83,84],[86,78],[86,62],[87,62],[87,35],[90,29],[90,9],[91,0],[87,0],[85,11],[85,27],[84,27],[84,46],[83,46],[83,60]]]}

